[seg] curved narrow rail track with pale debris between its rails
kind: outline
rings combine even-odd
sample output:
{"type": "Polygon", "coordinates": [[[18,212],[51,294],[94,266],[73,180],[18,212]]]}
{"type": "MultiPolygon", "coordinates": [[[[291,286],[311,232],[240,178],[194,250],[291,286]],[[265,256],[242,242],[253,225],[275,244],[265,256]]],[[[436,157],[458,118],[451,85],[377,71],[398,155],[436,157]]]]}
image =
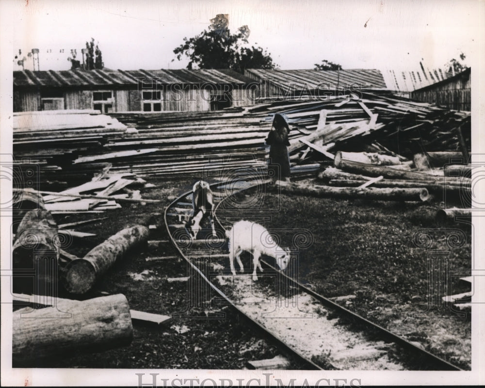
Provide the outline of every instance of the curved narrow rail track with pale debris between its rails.
{"type": "MultiPolygon", "coordinates": [[[[212,184],[215,213],[229,198],[266,181],[249,178],[212,184]]],[[[455,370],[460,368],[315,293],[266,260],[258,282],[250,271],[228,270],[225,228],[216,219],[216,236],[190,241],[183,220],[191,215],[192,191],[165,210],[168,234],[186,260],[198,287],[205,283],[220,296],[216,303],[236,309],[287,357],[306,369],[455,370]],[[173,220],[173,222],[169,222],[173,220]]],[[[230,206],[229,206],[230,207],[230,206]]],[[[230,227],[230,222],[227,227],[230,227]]],[[[199,234],[207,232],[201,231],[199,234]]],[[[285,272],[297,273],[289,266],[285,272]]],[[[203,287],[200,288],[201,290],[203,287]]]]}

